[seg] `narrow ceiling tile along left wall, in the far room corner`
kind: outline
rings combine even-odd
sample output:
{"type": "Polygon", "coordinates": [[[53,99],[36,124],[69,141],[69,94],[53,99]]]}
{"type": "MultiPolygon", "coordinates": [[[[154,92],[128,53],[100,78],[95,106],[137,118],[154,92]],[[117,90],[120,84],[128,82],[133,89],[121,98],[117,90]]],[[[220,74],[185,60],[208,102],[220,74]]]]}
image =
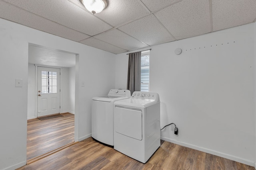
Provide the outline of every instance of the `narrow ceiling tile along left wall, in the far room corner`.
{"type": "Polygon", "coordinates": [[[98,49],[102,49],[104,51],[108,51],[110,53],[114,53],[114,54],[119,54],[119,53],[124,53],[127,50],[125,49],[121,49],[119,47],[116,47],[114,45],[111,45],[109,43],[103,42],[99,39],[96,39],[94,37],[90,37],[88,39],[85,39],[83,41],[80,41],[80,43],[85,44],[85,45],[89,45],[91,47],[95,47],[98,49]]]}

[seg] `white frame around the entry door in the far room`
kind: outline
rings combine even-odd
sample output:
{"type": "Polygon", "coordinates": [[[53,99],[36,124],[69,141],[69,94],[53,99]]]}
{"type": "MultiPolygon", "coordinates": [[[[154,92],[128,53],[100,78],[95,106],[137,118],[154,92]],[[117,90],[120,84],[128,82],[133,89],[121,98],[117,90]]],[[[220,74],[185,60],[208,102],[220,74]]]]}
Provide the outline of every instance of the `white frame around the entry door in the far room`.
{"type": "Polygon", "coordinates": [[[55,66],[44,66],[44,65],[37,65],[36,66],[36,83],[35,83],[35,92],[36,92],[36,96],[35,96],[35,116],[38,117],[38,67],[46,67],[46,68],[59,68],[60,69],[60,113],[62,113],[62,78],[61,78],[61,72],[62,72],[62,67],[55,67],[55,66]]]}

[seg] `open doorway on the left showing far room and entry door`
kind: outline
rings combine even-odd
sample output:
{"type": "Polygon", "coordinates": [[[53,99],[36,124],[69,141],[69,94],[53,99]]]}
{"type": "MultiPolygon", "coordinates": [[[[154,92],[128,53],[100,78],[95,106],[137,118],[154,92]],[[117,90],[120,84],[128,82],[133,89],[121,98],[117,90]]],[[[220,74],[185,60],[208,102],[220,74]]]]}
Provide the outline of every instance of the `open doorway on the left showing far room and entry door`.
{"type": "Polygon", "coordinates": [[[29,43],[27,164],[68,145],[75,135],[78,54],[29,43]],[[60,117],[39,120],[60,114],[60,117]]]}

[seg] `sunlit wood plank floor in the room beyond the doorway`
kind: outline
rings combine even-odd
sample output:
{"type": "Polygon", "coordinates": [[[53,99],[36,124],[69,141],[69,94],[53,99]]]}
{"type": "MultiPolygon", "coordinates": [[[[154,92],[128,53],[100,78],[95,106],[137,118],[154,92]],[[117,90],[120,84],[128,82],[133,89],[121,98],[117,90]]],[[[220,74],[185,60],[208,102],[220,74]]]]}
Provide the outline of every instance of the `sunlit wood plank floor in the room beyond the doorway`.
{"type": "Polygon", "coordinates": [[[28,120],[27,160],[74,142],[74,114],[40,121],[28,120]]]}

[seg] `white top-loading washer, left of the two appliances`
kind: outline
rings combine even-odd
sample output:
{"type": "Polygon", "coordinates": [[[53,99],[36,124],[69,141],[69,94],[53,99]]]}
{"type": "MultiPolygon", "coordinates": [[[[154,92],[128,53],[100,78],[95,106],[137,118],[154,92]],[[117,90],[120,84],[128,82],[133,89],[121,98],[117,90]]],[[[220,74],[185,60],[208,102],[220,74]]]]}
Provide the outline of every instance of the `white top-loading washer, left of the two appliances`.
{"type": "Polygon", "coordinates": [[[130,90],[111,89],[107,96],[92,98],[92,138],[114,146],[114,102],[131,96],[130,90]]]}

